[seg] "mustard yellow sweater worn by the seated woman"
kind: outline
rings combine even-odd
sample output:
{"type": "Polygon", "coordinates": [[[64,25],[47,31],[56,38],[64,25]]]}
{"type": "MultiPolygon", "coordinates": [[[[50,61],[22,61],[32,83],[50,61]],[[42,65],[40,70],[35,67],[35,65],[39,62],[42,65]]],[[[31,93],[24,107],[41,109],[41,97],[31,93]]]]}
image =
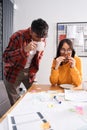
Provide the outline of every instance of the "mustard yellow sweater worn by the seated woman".
{"type": "Polygon", "coordinates": [[[70,68],[69,63],[59,66],[57,70],[55,70],[56,61],[53,60],[50,82],[52,85],[56,84],[74,84],[75,86],[79,86],[82,82],[82,63],[81,59],[78,56],[74,57],[76,61],[76,66],[74,68],[70,68]]]}

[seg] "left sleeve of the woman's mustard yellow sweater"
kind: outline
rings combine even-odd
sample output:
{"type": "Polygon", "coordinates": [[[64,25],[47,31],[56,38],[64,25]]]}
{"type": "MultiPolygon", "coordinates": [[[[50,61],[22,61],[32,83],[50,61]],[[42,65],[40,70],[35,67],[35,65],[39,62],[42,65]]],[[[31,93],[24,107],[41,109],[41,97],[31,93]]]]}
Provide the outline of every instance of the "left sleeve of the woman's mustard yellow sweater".
{"type": "Polygon", "coordinates": [[[52,67],[51,67],[51,75],[50,75],[50,83],[52,85],[55,85],[58,83],[58,77],[59,77],[59,70],[55,69],[56,61],[53,60],[52,67]]]}

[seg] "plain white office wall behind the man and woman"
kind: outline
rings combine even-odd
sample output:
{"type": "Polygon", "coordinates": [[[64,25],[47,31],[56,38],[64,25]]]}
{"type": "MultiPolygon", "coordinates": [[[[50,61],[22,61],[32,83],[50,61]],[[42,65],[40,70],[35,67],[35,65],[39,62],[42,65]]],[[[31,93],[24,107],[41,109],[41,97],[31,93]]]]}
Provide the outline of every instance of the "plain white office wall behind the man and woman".
{"type": "MultiPolygon", "coordinates": [[[[14,32],[30,26],[32,20],[45,19],[49,24],[49,35],[43,59],[37,73],[38,83],[49,84],[49,75],[53,57],[56,54],[56,23],[87,22],[86,0],[15,0],[14,32]]],[[[82,59],[85,66],[86,58],[82,59]]],[[[86,69],[86,67],[84,67],[86,69]]],[[[84,78],[87,77],[87,70],[84,78]]]]}

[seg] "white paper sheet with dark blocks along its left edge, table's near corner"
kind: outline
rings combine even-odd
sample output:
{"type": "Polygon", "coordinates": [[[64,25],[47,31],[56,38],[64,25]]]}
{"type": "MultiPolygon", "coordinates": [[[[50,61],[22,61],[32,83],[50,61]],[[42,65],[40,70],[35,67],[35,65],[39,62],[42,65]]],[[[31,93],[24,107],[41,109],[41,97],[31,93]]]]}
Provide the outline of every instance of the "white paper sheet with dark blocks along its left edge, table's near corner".
{"type": "Polygon", "coordinates": [[[35,112],[15,116],[8,115],[9,130],[40,130],[42,118],[35,112]]]}

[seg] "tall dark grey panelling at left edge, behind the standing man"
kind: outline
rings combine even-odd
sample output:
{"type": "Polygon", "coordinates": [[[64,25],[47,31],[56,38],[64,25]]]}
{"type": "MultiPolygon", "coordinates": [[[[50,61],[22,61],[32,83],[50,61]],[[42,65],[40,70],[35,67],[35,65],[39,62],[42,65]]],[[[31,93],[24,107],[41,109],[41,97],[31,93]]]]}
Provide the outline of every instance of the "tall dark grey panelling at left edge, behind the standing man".
{"type": "Polygon", "coordinates": [[[13,32],[13,12],[10,0],[0,0],[0,80],[3,80],[2,54],[13,32]]]}

